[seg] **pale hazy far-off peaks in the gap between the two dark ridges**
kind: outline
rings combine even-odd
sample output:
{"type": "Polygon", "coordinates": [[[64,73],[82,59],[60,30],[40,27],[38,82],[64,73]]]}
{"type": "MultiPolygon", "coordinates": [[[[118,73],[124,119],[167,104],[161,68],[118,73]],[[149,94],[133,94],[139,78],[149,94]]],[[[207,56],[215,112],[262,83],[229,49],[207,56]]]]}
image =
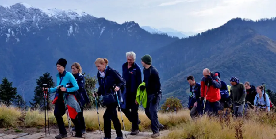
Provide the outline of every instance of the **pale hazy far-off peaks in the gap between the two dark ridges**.
{"type": "Polygon", "coordinates": [[[157,28],[153,28],[153,27],[150,27],[150,26],[141,26],[141,28],[143,28],[144,30],[146,30],[150,33],[166,33],[169,36],[175,36],[175,37],[178,37],[180,39],[197,34],[196,32],[177,31],[177,30],[172,29],[172,28],[159,28],[159,29],[157,29],[157,28]]]}

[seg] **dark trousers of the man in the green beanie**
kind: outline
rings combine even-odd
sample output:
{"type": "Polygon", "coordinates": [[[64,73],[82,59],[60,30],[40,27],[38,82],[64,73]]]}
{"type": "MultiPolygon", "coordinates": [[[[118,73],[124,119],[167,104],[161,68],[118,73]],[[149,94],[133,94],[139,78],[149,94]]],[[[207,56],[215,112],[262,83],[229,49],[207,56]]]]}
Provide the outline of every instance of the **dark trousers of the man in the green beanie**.
{"type": "Polygon", "coordinates": [[[152,99],[154,98],[154,94],[148,95],[148,101],[147,101],[147,107],[145,108],[145,113],[147,117],[151,120],[151,130],[153,134],[159,133],[159,121],[158,121],[158,107],[159,102],[162,98],[162,94],[159,93],[157,96],[156,103],[152,102],[152,99]]]}

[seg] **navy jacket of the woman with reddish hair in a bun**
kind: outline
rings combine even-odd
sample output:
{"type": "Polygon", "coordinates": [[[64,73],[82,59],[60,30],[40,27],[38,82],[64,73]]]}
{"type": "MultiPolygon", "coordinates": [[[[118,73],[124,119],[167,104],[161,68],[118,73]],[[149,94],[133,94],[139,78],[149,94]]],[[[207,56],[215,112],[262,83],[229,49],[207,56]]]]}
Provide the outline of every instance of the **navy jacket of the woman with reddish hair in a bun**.
{"type": "MultiPolygon", "coordinates": [[[[120,88],[120,91],[117,91],[118,99],[120,103],[123,103],[125,101],[125,97],[122,98],[122,93],[124,95],[125,93],[125,80],[121,77],[120,73],[116,71],[115,69],[111,68],[110,66],[107,66],[105,69],[105,77],[102,77],[100,72],[98,71],[97,74],[99,88],[98,88],[98,95],[105,95],[108,93],[114,94],[113,86],[116,85],[120,88]],[[121,101],[123,100],[123,101],[121,101]]],[[[117,100],[116,96],[115,99],[117,100]]],[[[121,104],[122,108],[123,104],[121,104]]]]}

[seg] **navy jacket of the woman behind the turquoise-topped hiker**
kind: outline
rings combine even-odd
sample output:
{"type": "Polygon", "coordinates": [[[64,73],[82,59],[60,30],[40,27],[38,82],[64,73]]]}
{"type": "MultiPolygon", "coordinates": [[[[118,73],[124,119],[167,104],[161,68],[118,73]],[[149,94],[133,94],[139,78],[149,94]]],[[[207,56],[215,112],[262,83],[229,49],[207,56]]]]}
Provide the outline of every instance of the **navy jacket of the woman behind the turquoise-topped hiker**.
{"type": "Polygon", "coordinates": [[[84,79],[84,74],[81,73],[77,73],[77,74],[73,74],[73,76],[75,77],[78,85],[79,85],[79,90],[78,90],[78,95],[79,97],[78,100],[81,103],[82,106],[84,106],[87,103],[90,103],[89,97],[87,95],[87,92],[85,90],[85,79],[84,79]]]}

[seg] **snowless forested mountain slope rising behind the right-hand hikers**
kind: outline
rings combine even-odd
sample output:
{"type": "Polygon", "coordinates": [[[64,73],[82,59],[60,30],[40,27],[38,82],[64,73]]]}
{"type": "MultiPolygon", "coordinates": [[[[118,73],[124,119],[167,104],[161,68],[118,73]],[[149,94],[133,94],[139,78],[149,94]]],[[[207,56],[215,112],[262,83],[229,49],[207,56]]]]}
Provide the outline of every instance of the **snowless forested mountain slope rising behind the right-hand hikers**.
{"type": "Polygon", "coordinates": [[[176,96],[188,101],[186,78],[193,75],[200,83],[202,71],[219,71],[228,85],[234,76],[255,87],[266,83],[276,90],[276,18],[234,18],[226,24],[184,38],[151,54],[161,75],[164,97],[176,96]]]}

